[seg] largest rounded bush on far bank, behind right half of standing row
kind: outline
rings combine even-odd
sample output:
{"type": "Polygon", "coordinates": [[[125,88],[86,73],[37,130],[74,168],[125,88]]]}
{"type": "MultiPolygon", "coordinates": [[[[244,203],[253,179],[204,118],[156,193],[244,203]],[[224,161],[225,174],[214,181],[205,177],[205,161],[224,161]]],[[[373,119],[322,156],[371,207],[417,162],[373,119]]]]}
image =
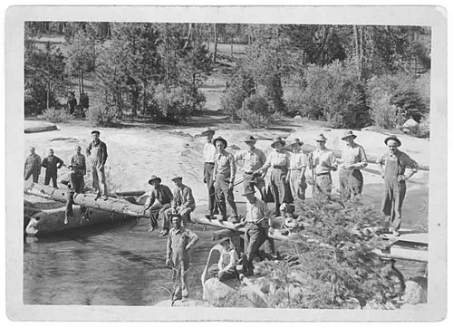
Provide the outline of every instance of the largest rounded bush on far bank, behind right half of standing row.
{"type": "Polygon", "coordinates": [[[323,67],[309,65],[306,88],[291,99],[304,117],[326,120],[333,128],[363,127],[369,121],[359,76],[348,66],[335,62],[323,67]]]}

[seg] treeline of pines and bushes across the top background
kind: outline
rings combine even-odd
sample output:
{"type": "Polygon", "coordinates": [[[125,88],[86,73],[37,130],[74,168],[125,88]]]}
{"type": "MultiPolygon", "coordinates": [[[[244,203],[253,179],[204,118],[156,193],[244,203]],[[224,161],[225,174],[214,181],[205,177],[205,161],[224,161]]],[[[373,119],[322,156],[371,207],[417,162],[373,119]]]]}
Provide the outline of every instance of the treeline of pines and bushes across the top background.
{"type": "Polygon", "coordinates": [[[429,113],[430,30],[422,26],[303,24],[25,24],[25,111],[57,107],[77,76],[94,76],[100,123],[128,112],[184,120],[203,108],[199,91],[217,44],[230,43],[234,67],[221,108],[232,119],[266,126],[282,114],[333,127],[395,128],[429,113]],[[61,34],[63,55],[44,34],[61,34]],[[234,44],[245,44],[236,54],[234,44]]]}

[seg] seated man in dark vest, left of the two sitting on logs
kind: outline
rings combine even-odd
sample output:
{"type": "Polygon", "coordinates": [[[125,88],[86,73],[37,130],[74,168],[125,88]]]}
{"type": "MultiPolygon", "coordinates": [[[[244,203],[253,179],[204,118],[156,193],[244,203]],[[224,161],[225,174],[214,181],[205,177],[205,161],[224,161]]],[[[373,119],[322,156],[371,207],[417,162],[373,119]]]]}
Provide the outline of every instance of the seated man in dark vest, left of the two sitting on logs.
{"type": "MultiPolygon", "coordinates": [[[[168,186],[160,184],[162,181],[161,178],[158,178],[156,175],[152,175],[148,180],[148,184],[152,187],[149,191],[149,197],[143,207],[143,210],[149,210],[149,223],[150,228],[149,232],[152,232],[155,229],[158,229],[158,219],[159,216],[164,217],[165,210],[170,207],[171,200],[173,199],[173,194],[171,193],[168,186]]],[[[169,234],[168,231],[162,229],[160,236],[169,234]]]]}

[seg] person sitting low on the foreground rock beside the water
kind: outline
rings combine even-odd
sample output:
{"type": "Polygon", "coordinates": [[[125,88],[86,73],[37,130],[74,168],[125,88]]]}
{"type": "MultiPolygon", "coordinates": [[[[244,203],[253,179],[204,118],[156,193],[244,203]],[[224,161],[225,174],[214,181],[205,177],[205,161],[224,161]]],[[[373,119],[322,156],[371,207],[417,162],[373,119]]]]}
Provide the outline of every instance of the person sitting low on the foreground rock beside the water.
{"type": "Polygon", "coordinates": [[[238,262],[236,248],[231,242],[231,238],[224,237],[219,242],[222,245],[222,253],[218,259],[217,264],[212,264],[207,274],[217,277],[220,282],[224,282],[227,279],[236,278],[236,265],[238,262]]]}

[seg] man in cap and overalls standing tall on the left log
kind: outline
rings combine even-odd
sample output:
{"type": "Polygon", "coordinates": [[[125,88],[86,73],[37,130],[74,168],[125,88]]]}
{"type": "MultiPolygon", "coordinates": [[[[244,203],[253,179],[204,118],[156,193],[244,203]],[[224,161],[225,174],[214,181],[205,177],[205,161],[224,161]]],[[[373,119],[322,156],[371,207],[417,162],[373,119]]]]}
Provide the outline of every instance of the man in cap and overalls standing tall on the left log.
{"type": "Polygon", "coordinates": [[[92,131],[92,142],[86,149],[87,157],[92,164],[92,187],[97,192],[97,197],[108,198],[107,181],[105,180],[105,161],[107,161],[107,145],[99,139],[99,130],[92,131]]]}

